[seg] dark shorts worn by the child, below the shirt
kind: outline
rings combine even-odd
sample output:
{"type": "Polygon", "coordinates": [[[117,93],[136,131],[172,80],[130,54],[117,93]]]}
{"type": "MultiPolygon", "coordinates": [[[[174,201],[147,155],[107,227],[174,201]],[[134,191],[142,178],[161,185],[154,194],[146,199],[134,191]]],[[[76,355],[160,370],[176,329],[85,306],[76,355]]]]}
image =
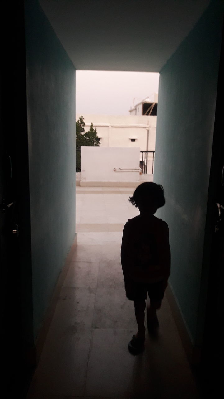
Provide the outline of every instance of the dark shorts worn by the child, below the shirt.
{"type": "Polygon", "coordinates": [[[126,296],[130,300],[146,300],[147,293],[151,302],[157,302],[163,299],[165,291],[163,281],[147,284],[143,282],[125,280],[124,284],[126,289],[126,296]]]}

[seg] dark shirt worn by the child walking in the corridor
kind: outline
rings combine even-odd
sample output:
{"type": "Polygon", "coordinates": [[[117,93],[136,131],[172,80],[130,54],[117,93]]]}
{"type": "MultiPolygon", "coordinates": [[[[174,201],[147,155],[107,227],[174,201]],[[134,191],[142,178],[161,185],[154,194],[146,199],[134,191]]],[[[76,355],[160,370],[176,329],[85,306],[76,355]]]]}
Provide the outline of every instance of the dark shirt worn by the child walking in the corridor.
{"type": "Polygon", "coordinates": [[[124,226],[121,263],[124,279],[153,283],[170,274],[169,228],[155,216],[136,216],[124,226]]]}

